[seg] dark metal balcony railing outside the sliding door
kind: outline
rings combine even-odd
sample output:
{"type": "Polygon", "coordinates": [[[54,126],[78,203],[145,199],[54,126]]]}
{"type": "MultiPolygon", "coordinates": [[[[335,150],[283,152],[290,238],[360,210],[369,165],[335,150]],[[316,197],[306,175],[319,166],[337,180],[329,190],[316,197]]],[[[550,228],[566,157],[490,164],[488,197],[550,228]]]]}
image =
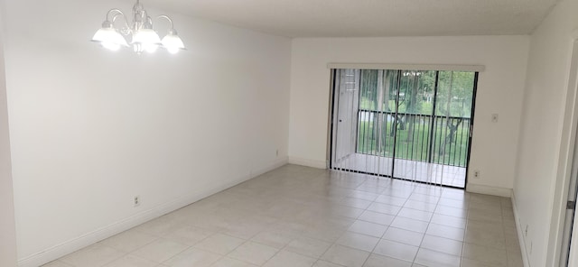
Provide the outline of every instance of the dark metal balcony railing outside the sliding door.
{"type": "Polygon", "coordinates": [[[466,167],[471,118],[358,110],[358,153],[466,167]]]}

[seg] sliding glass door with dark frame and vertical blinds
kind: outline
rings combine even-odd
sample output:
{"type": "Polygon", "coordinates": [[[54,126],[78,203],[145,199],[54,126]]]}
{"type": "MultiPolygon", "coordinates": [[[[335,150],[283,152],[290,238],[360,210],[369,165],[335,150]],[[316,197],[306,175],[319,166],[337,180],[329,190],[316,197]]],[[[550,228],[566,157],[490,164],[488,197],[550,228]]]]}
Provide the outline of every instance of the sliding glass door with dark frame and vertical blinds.
{"type": "Polygon", "coordinates": [[[332,71],[331,169],[465,187],[476,72],[332,71]]]}

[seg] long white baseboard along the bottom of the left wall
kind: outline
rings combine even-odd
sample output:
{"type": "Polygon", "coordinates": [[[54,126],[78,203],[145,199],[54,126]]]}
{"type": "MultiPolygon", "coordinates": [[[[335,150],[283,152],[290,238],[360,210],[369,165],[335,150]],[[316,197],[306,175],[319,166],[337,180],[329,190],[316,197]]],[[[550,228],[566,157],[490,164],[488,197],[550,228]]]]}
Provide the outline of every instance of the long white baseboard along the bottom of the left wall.
{"type": "Polygon", "coordinates": [[[219,193],[222,190],[231,188],[238,185],[246,180],[250,180],[256,176],[259,176],[269,170],[275,170],[278,167],[283,166],[287,163],[287,158],[281,158],[279,160],[273,161],[268,164],[265,168],[258,168],[256,170],[250,171],[249,175],[244,175],[235,180],[230,180],[222,185],[219,185],[212,189],[200,190],[197,192],[192,192],[190,194],[174,198],[169,202],[163,203],[156,207],[144,210],[135,214],[134,216],[129,216],[123,220],[117,221],[108,226],[101,227],[95,231],[89,232],[85,235],[80,235],[74,239],[68,240],[61,244],[56,244],[51,248],[48,248],[40,253],[35,253],[33,255],[27,256],[23,259],[18,260],[18,266],[20,267],[38,267],[42,264],[52,262],[56,259],[61,258],[69,253],[73,253],[91,244],[96,244],[99,241],[107,239],[110,236],[122,233],[130,228],[144,224],[156,217],[163,216],[181,207],[185,207],[194,202],[199,201],[202,198],[207,198],[211,195],[219,193]]]}

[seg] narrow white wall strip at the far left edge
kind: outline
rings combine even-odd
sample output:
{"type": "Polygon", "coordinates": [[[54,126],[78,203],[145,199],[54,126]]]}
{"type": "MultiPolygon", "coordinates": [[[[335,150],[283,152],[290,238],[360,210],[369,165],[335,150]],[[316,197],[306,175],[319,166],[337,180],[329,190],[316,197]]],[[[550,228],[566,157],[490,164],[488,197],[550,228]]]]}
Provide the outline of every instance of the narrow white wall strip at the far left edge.
{"type": "Polygon", "coordinates": [[[6,106],[4,18],[5,3],[0,1],[0,266],[16,266],[16,227],[14,194],[6,106]]]}

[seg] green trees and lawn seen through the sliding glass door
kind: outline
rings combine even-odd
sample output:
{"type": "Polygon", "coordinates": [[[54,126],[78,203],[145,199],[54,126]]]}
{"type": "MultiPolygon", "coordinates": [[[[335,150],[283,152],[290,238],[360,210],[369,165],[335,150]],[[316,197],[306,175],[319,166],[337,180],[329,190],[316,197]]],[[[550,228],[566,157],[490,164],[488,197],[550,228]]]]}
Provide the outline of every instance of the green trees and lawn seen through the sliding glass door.
{"type": "Polygon", "coordinates": [[[358,152],[393,156],[397,111],[396,158],[429,161],[433,142],[433,162],[465,167],[474,72],[362,69],[360,75],[359,109],[387,112],[389,119],[383,125],[359,122],[358,152]],[[437,123],[430,141],[432,115],[437,123]],[[449,124],[445,116],[463,119],[449,124]]]}

